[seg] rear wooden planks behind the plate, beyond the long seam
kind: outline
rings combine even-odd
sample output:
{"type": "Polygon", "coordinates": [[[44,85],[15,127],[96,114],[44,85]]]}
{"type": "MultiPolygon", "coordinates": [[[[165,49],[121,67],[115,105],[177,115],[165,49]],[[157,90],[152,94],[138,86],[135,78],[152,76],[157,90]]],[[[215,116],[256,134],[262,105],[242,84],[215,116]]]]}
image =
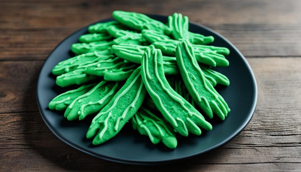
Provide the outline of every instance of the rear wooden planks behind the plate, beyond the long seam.
{"type": "Polygon", "coordinates": [[[12,10],[0,11],[0,60],[44,60],[71,33],[118,9],[181,12],[221,33],[247,57],[301,56],[301,1],[4,1],[1,6],[12,10]]]}

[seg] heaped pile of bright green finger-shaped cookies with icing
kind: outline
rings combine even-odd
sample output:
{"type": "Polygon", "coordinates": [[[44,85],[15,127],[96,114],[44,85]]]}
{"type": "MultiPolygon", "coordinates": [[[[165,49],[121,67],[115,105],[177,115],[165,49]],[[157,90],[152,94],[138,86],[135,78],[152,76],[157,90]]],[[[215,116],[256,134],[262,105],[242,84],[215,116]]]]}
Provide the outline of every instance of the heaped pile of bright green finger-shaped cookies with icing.
{"type": "Polygon", "coordinates": [[[80,85],[55,97],[52,110],[68,120],[95,115],[87,138],[99,145],[130,121],[133,129],[174,149],[176,133],[212,130],[207,121],[230,112],[214,88],[229,85],[211,67],[229,65],[229,50],[210,44],[213,36],[188,31],[188,17],[175,13],[168,23],[144,14],[114,11],[114,21],[89,26],[71,51],[76,54],[52,70],[61,87],[80,85]],[[200,113],[208,117],[203,117],[200,113]]]}

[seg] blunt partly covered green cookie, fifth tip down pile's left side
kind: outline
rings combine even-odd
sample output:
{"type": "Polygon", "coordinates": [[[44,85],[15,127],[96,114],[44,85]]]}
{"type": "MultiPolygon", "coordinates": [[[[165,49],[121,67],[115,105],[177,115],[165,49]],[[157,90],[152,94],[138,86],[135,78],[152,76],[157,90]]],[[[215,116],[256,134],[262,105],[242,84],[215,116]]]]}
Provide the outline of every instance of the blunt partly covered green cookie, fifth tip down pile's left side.
{"type": "Polygon", "coordinates": [[[71,72],[64,73],[56,78],[55,83],[58,86],[66,87],[74,84],[80,85],[97,79],[96,76],[86,74],[85,70],[86,69],[76,69],[71,72]]]}

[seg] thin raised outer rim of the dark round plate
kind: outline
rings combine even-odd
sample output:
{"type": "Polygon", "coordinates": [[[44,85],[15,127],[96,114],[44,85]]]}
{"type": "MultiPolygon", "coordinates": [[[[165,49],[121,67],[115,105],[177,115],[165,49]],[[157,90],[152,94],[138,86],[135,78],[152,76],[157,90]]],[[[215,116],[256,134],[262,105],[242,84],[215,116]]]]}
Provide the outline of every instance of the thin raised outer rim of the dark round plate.
{"type": "MultiPolygon", "coordinates": [[[[157,16],[157,17],[168,17],[166,15],[161,15],[161,14],[146,14],[147,16],[157,16]]],[[[256,78],[255,78],[255,75],[253,73],[253,70],[252,68],[250,67],[250,64],[248,63],[247,59],[244,57],[244,55],[241,54],[241,52],[228,40],[226,39],[224,36],[222,36],[221,34],[217,33],[216,31],[206,27],[206,26],[203,26],[201,24],[198,24],[198,23],[195,23],[195,22],[189,22],[191,24],[194,24],[194,25],[197,25],[198,27],[202,27],[206,30],[209,30],[210,32],[213,32],[215,33],[216,35],[220,36],[223,40],[225,40],[235,51],[237,51],[238,55],[240,57],[242,57],[242,60],[244,61],[244,63],[246,64],[247,66],[247,69],[250,71],[250,74],[251,74],[251,77],[253,79],[253,84],[254,84],[254,99],[253,99],[253,102],[252,102],[252,108],[250,110],[250,113],[248,114],[248,118],[247,120],[245,120],[244,124],[238,129],[236,130],[234,133],[231,134],[231,136],[229,136],[227,139],[225,139],[224,141],[220,142],[219,144],[216,144],[208,149],[205,149],[201,152],[197,152],[197,153],[194,153],[194,154],[191,154],[191,155],[186,155],[186,156],[182,156],[182,157],[177,157],[177,158],[170,158],[170,159],[166,159],[166,160],[146,160],[146,161],[133,161],[133,160],[128,160],[128,159],[124,159],[124,158],[114,158],[114,157],[109,157],[109,156],[106,156],[106,155],[101,155],[101,154],[95,154],[94,152],[90,151],[90,150],[87,150],[79,145],[76,145],[74,144],[73,142],[69,141],[68,139],[64,138],[63,136],[61,136],[59,133],[57,133],[55,131],[55,129],[53,129],[53,127],[48,123],[48,120],[45,119],[45,114],[43,113],[42,109],[41,109],[41,105],[40,105],[40,102],[39,102],[39,98],[38,98],[38,83],[39,83],[39,80],[40,80],[40,77],[41,77],[41,71],[42,69],[44,68],[46,62],[49,60],[49,57],[52,55],[52,53],[54,52],[54,50],[60,46],[66,39],[68,39],[69,37],[73,36],[74,34],[76,34],[77,32],[81,31],[82,29],[92,25],[92,24],[95,24],[95,23],[100,23],[100,22],[107,22],[107,21],[111,21],[111,20],[114,20],[113,17],[110,17],[110,18],[105,18],[105,19],[101,19],[101,20],[98,20],[96,22],[93,22],[85,27],[82,27],[78,30],[76,30],[75,32],[73,32],[72,34],[70,34],[69,36],[67,36],[65,39],[63,39],[59,44],[57,44],[55,46],[55,48],[51,51],[51,53],[48,55],[48,57],[45,59],[42,67],[41,67],[41,70],[39,72],[39,76],[38,76],[38,79],[37,79],[37,82],[36,82],[36,101],[37,101],[37,105],[38,105],[38,108],[39,108],[39,112],[40,112],[40,115],[43,119],[43,121],[45,122],[46,126],[48,127],[48,129],[54,134],[54,136],[56,136],[59,140],[61,140],[62,142],[66,143],[67,145],[70,145],[71,147],[81,151],[81,152],[84,152],[88,155],[92,155],[94,157],[97,157],[97,158],[101,158],[101,159],[104,159],[104,160],[107,160],[107,161],[113,161],[113,162],[118,162],[118,163],[123,163],[123,164],[136,164],[136,165],[155,165],[155,164],[166,164],[166,163],[172,163],[172,162],[175,162],[175,161],[181,161],[181,160],[184,160],[184,159],[187,159],[187,158],[192,158],[194,156],[197,156],[197,155],[201,155],[203,153],[206,153],[206,152],[209,152],[211,150],[214,150],[216,148],[219,148],[223,145],[225,145],[226,143],[230,142],[232,139],[234,139],[242,130],[244,130],[244,128],[247,126],[247,124],[249,124],[251,118],[253,117],[253,114],[255,112],[255,109],[256,109],[256,105],[257,105],[257,99],[258,99],[258,88],[257,88],[257,82],[256,82],[256,78]]]]}

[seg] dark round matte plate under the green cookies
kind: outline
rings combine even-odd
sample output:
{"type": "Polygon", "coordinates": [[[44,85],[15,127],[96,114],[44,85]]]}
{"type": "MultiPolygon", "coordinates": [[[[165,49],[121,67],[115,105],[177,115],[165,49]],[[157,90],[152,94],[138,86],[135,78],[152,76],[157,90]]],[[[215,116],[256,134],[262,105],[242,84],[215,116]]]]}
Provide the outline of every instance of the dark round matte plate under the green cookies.
{"type": "MultiPolygon", "coordinates": [[[[167,22],[166,16],[149,15],[149,17],[167,22]]],[[[107,22],[113,19],[101,20],[107,22]]],[[[229,142],[250,121],[257,102],[257,86],[253,72],[244,56],[227,39],[220,34],[198,24],[189,24],[189,30],[205,36],[212,35],[214,46],[227,47],[230,55],[227,59],[229,67],[216,67],[215,70],[225,74],[230,80],[230,86],[219,87],[217,90],[228,103],[231,112],[224,121],[209,120],[213,130],[203,132],[201,136],[178,136],[178,146],[171,150],[162,143],[153,145],[147,136],[141,136],[129,124],[113,139],[99,146],[93,146],[92,140],[85,135],[91,124],[92,117],[82,121],[68,121],[63,112],[51,111],[48,103],[58,94],[70,88],[60,88],[55,85],[55,77],[51,74],[52,68],[60,61],[73,57],[70,47],[77,43],[79,36],[88,33],[84,27],[62,41],[45,61],[37,82],[37,102],[42,118],[49,129],[68,145],[90,155],[129,164],[160,164],[175,160],[182,160],[194,155],[213,150],[229,142]]],[[[205,115],[204,115],[205,116],[205,115]]]]}

